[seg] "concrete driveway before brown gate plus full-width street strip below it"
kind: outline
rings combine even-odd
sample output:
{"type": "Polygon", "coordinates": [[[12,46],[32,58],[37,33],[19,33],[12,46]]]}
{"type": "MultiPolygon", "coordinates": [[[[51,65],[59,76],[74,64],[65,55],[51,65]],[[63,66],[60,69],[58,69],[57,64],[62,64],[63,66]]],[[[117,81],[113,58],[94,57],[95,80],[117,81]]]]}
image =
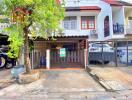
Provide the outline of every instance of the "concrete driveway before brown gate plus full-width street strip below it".
{"type": "Polygon", "coordinates": [[[41,99],[132,100],[132,91],[106,92],[85,70],[44,70],[36,82],[15,83],[0,91],[0,100],[41,99]]]}

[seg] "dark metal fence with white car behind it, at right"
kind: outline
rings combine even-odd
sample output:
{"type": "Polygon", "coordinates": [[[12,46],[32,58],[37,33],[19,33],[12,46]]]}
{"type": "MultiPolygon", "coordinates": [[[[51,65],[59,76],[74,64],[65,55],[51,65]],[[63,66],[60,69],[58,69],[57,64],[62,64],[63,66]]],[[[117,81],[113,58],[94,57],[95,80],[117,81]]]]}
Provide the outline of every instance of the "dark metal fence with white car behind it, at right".
{"type": "Polygon", "coordinates": [[[132,66],[132,41],[90,41],[89,65],[132,66]]]}

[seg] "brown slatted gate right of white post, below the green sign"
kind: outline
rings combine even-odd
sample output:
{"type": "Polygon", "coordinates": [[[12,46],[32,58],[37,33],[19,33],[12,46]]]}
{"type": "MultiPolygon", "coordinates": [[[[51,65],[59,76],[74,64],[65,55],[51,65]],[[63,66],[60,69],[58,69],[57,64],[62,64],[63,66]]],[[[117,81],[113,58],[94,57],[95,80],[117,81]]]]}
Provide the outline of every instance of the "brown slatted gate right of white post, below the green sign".
{"type": "MultiPolygon", "coordinates": [[[[51,64],[53,67],[56,66],[56,64],[58,64],[57,66],[60,67],[67,66],[67,64],[74,64],[74,67],[78,67],[78,65],[84,65],[84,50],[66,49],[66,56],[60,57],[59,49],[51,49],[50,54],[51,64]]],[[[67,67],[70,67],[70,65],[68,65],[67,67]]]]}

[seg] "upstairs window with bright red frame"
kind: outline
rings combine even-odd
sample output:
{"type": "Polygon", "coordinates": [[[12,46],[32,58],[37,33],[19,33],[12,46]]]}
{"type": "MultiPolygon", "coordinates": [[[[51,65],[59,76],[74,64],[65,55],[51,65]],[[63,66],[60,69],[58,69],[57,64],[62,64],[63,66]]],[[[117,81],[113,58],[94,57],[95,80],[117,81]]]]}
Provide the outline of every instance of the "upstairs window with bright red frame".
{"type": "Polygon", "coordinates": [[[95,29],[95,17],[94,16],[82,16],[81,17],[81,29],[95,29]]]}

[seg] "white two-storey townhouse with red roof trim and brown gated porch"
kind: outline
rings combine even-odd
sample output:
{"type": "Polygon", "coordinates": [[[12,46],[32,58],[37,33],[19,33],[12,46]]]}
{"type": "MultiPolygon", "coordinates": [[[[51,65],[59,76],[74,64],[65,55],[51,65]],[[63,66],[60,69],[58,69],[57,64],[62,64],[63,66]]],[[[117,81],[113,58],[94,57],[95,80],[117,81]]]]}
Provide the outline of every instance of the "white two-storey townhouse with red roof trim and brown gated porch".
{"type": "MultiPolygon", "coordinates": [[[[59,1],[61,3],[61,0],[59,1]]],[[[62,31],[55,40],[33,41],[32,66],[86,68],[87,42],[131,40],[132,4],[115,0],[65,0],[62,31]]]]}

